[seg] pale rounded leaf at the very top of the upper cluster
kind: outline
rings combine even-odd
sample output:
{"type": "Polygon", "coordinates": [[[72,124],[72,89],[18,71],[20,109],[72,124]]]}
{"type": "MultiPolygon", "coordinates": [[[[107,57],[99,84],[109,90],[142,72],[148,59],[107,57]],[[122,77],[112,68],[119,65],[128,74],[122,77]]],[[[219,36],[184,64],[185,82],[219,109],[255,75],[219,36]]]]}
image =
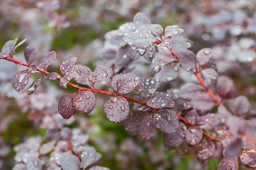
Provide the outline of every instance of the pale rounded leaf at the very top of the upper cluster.
{"type": "Polygon", "coordinates": [[[133,23],[135,28],[138,30],[143,30],[151,26],[151,21],[141,12],[138,12],[136,15],[134,15],[133,23]]]}

